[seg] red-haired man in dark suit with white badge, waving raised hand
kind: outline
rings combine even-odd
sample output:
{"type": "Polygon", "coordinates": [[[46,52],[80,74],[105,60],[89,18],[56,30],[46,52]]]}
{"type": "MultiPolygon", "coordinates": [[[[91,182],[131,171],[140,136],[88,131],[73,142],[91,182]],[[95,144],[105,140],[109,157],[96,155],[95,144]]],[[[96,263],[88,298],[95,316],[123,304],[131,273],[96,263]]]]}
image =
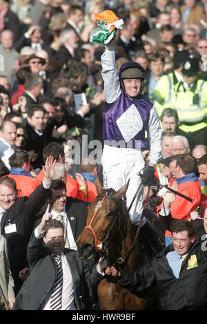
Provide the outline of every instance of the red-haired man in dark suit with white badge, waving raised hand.
{"type": "Polygon", "coordinates": [[[12,178],[0,178],[1,234],[8,243],[10,269],[14,278],[16,294],[19,292],[22,280],[28,276],[26,249],[32,234],[34,216],[48,198],[55,162],[51,157],[47,159],[43,183],[35,189],[29,198],[17,198],[16,182],[12,178]]]}

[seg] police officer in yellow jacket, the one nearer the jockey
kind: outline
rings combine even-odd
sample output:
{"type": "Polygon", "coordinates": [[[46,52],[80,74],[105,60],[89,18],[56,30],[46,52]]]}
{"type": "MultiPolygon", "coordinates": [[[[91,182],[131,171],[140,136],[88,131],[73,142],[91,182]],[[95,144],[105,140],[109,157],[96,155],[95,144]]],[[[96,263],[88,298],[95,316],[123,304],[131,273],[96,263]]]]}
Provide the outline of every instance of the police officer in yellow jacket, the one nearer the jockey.
{"type": "Polygon", "coordinates": [[[150,98],[154,102],[159,117],[164,108],[174,107],[175,103],[175,85],[181,81],[183,75],[181,70],[188,57],[188,50],[177,50],[174,55],[174,70],[171,73],[163,75],[157,81],[155,89],[150,98]]]}

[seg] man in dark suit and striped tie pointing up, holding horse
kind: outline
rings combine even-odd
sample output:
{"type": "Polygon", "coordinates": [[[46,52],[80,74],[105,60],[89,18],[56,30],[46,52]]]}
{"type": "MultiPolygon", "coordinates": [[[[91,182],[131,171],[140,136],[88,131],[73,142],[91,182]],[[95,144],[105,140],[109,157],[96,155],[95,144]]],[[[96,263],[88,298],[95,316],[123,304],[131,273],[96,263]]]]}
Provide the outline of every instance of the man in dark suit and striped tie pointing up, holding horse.
{"type": "Polygon", "coordinates": [[[107,260],[100,258],[91,273],[76,251],[64,248],[63,224],[50,219],[48,211],[28,244],[31,274],[23,283],[13,310],[91,309],[107,260]],[[58,289],[55,297],[54,286],[58,289]]]}

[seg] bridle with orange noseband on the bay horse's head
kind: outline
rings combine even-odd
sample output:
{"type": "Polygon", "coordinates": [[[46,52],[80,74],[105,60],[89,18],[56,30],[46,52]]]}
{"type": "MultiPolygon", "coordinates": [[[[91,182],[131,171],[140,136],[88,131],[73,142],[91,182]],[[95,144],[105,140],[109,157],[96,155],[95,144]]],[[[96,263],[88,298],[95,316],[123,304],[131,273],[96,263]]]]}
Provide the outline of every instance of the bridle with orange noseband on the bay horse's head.
{"type": "Polygon", "coordinates": [[[120,207],[119,207],[119,203],[117,202],[117,200],[115,200],[114,198],[108,196],[108,192],[106,192],[105,195],[98,195],[97,198],[102,198],[102,200],[99,202],[99,206],[97,207],[97,209],[95,210],[95,213],[93,214],[91,220],[90,220],[90,224],[88,226],[86,226],[85,228],[90,229],[90,231],[92,231],[92,234],[95,238],[95,250],[101,252],[103,255],[106,255],[106,248],[108,247],[108,238],[110,236],[110,232],[112,231],[112,228],[115,225],[115,222],[117,220],[117,216],[120,219],[120,207]],[[99,238],[97,238],[97,235],[95,234],[95,231],[92,229],[92,221],[95,219],[95,216],[97,215],[97,212],[99,211],[99,209],[101,209],[102,207],[102,202],[103,200],[105,200],[106,198],[109,198],[111,200],[113,200],[116,204],[117,204],[117,212],[115,213],[115,217],[112,220],[112,223],[110,225],[110,229],[108,230],[108,233],[106,234],[106,237],[101,241],[99,240],[99,238]]]}

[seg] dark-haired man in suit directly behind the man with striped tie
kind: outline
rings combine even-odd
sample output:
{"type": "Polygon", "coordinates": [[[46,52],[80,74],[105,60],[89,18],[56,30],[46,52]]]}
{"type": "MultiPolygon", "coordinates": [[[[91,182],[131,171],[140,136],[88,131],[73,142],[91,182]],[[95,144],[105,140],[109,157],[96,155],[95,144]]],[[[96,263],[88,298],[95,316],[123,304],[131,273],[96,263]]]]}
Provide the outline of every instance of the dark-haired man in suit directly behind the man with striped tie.
{"type": "Polygon", "coordinates": [[[49,200],[39,211],[34,227],[39,224],[50,204],[52,218],[61,220],[65,227],[66,247],[77,250],[76,241],[86,226],[88,202],[66,196],[66,183],[52,180],[49,200]]]}

